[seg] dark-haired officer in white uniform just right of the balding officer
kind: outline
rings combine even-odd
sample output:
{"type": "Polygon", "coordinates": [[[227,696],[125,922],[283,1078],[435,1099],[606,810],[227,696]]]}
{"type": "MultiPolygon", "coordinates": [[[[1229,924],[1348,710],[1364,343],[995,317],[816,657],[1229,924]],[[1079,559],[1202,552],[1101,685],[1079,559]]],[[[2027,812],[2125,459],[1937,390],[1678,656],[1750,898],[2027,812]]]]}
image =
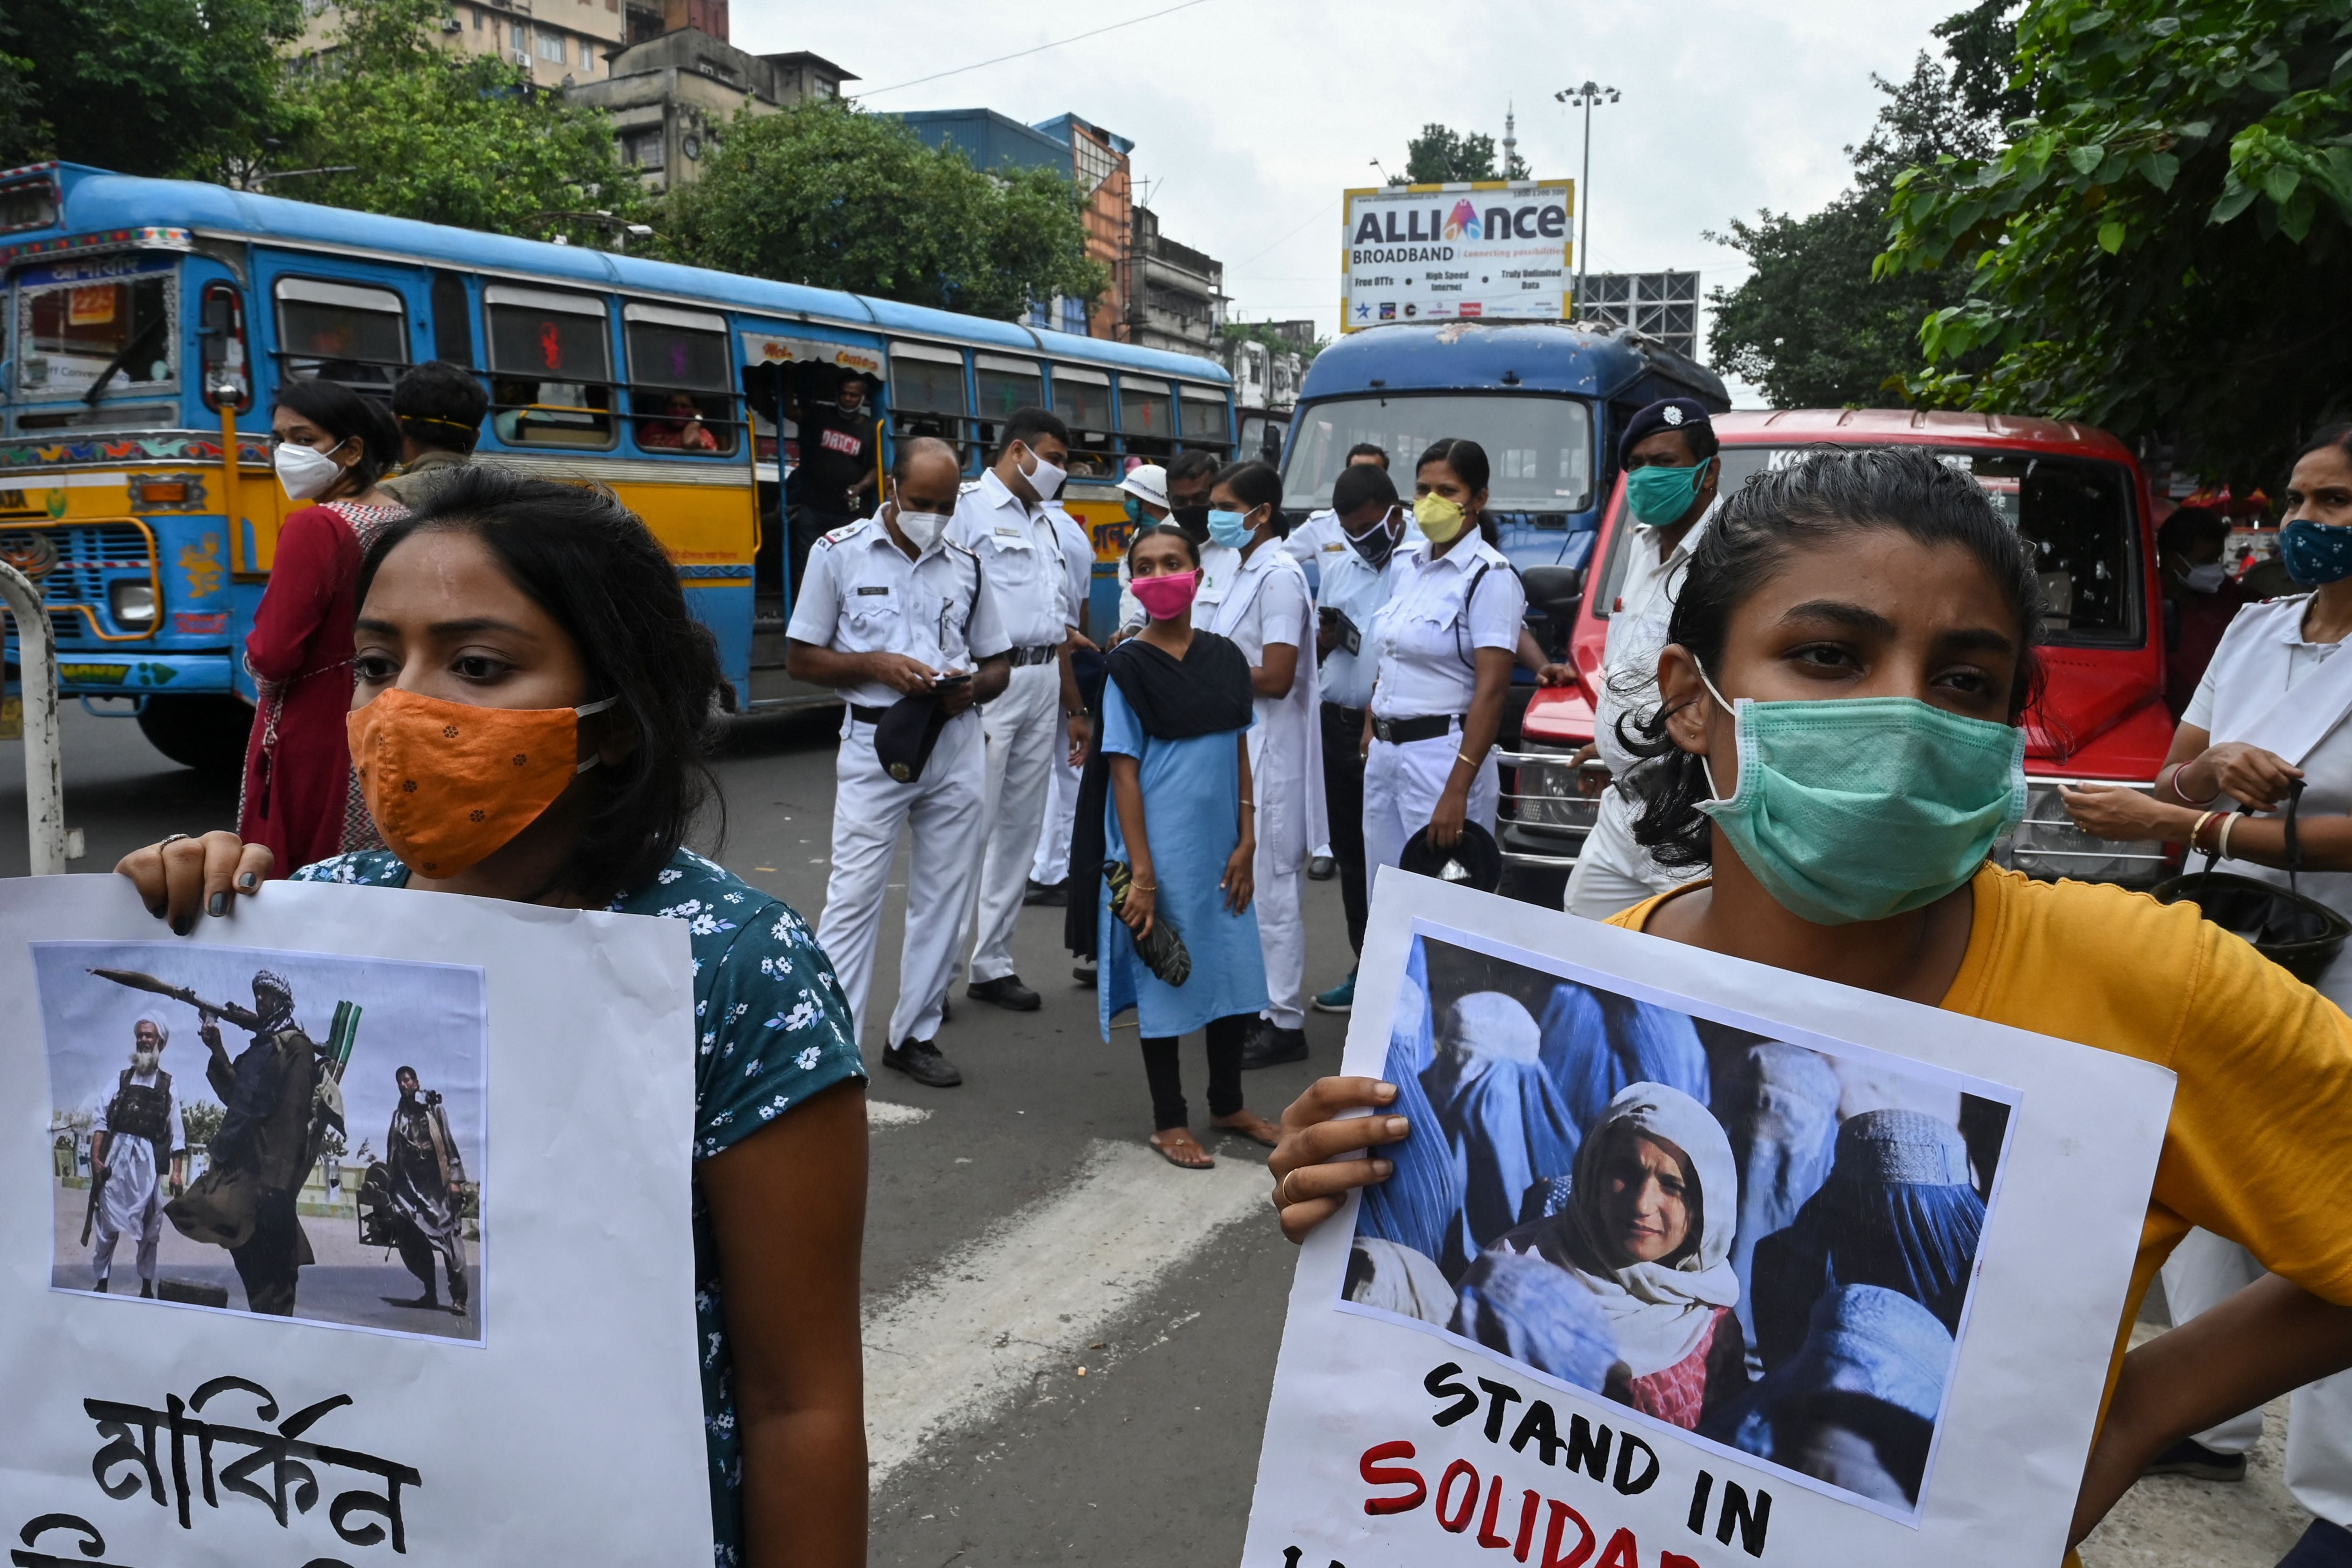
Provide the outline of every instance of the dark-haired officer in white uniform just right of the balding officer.
{"type": "Polygon", "coordinates": [[[988,736],[985,849],[974,889],[967,994],[1016,1013],[1044,999],[1014,973],[1014,922],[1044,820],[1047,773],[1063,752],[1061,649],[1080,632],[1094,550],[1054,501],[1070,430],[1047,409],[1014,409],[997,461],[955,503],[948,536],[971,550],[1011,637],[1011,682],[981,715],[988,736]]]}

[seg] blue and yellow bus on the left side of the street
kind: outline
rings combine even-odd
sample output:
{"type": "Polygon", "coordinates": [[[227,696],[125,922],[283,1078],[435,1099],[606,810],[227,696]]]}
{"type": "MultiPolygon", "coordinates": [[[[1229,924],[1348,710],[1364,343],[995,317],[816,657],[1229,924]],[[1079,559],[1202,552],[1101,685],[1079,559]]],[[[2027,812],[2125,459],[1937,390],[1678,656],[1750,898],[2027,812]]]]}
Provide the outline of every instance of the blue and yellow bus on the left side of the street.
{"type": "Polygon", "coordinates": [[[470,367],[492,402],[480,456],[637,510],[739,710],[828,696],[783,672],[783,496],[790,411],[842,369],[877,388],[877,458],[941,435],[978,475],[1011,409],[1058,411],[1096,623],[1120,473],[1235,440],[1211,360],[80,165],[0,172],[0,559],[42,590],[61,691],[136,712],[188,766],[242,762],[240,651],[294,510],[268,451],[287,376],[386,395],[409,364],[470,367]],[[715,440],[680,442],[687,404],[715,440]]]}

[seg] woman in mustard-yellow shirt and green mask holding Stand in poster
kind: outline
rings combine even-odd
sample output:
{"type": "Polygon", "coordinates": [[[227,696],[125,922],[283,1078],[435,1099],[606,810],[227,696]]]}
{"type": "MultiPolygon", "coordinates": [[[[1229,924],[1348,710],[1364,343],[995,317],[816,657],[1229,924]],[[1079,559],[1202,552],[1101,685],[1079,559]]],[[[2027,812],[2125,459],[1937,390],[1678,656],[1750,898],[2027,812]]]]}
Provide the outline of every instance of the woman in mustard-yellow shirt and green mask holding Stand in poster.
{"type": "MultiPolygon", "coordinates": [[[[2352,1366],[2352,1023],[2190,905],[1985,863],[2018,811],[2039,630],[2025,545],[1931,454],[1752,480],[1691,555],[1632,736],[1637,839],[1712,875],[1611,924],[2178,1074],[2117,1349],[2192,1220],[2270,1276],[2117,1356],[2082,1540],[2173,1441],[2352,1366]]],[[[1289,1237],[1388,1178],[1355,1150],[1444,1135],[1341,1119],[1395,1098],[1322,1079],[1291,1105],[1270,1161],[1289,1237]]]]}

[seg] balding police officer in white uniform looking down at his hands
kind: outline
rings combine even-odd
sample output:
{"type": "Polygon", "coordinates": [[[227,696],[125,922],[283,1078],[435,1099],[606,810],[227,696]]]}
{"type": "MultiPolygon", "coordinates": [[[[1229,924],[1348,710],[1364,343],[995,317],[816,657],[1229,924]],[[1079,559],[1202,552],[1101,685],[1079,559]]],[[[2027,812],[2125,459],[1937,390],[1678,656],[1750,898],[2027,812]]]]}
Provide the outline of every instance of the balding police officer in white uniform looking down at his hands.
{"type": "Polygon", "coordinates": [[[816,541],[786,632],[793,677],[837,686],[849,701],[816,943],[833,959],[863,1044],[882,891],[898,825],[910,825],[906,947],[882,1065],[938,1088],[964,1081],[936,1037],[981,844],[985,759],[971,708],[1004,691],[1011,646],[981,562],[946,536],[955,491],[953,447],[931,437],[898,442],[889,503],[816,541]],[[898,698],[934,691],[953,717],[922,776],[898,783],[875,755],[875,724],[898,698]]]}

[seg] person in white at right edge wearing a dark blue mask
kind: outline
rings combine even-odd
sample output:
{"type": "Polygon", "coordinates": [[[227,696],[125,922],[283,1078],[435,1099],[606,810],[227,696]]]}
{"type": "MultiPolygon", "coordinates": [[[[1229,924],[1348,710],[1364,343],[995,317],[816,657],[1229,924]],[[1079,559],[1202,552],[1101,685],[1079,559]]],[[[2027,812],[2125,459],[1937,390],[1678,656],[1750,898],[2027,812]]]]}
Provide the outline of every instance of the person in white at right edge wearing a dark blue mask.
{"type": "MultiPolygon", "coordinates": [[[[2223,870],[2286,886],[2281,816],[2288,780],[2300,778],[2298,849],[2317,870],[2293,882],[2305,898],[2352,914],[2343,849],[2352,816],[2352,425],[2321,430],[2296,456],[2279,557],[2312,592],[2237,611],[2180,715],[2152,797],[2089,785],[2065,790],[2065,806],[2098,837],[2190,844],[2192,865],[2204,865],[2201,851],[2220,851],[2223,870]],[[2239,804],[2256,811],[2234,816],[2239,804]]],[[[2352,954],[2338,954],[2312,990],[2352,1006],[2352,954]]],[[[2164,1300],[2173,1324],[2185,1324],[2260,1276],[2244,1246],[2192,1229],[2164,1262],[2164,1300]]],[[[2157,1455],[2150,1474],[2237,1481],[2260,1436],[2263,1413],[2249,1410],[2157,1455]]],[[[2314,1521],[2281,1568],[2352,1561],[2352,1373],[2293,1392],[2284,1481],[2314,1521]]]]}

